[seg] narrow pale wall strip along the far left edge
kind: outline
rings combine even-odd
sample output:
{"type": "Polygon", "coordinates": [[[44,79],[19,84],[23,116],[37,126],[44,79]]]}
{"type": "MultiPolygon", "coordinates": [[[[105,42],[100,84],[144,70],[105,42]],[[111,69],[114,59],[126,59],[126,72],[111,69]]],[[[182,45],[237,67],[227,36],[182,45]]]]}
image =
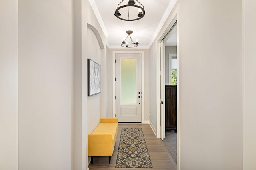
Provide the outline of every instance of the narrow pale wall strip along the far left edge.
{"type": "Polygon", "coordinates": [[[0,2],[0,169],[18,170],[18,1],[0,2]]]}

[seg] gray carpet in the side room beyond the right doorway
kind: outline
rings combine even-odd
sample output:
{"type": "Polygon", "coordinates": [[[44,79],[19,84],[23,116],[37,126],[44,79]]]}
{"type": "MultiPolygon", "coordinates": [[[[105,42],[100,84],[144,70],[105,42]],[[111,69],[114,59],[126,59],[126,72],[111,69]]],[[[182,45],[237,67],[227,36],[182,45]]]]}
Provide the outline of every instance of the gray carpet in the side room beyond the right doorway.
{"type": "Polygon", "coordinates": [[[174,130],[166,131],[163,140],[174,161],[177,163],[177,133],[174,130]]]}

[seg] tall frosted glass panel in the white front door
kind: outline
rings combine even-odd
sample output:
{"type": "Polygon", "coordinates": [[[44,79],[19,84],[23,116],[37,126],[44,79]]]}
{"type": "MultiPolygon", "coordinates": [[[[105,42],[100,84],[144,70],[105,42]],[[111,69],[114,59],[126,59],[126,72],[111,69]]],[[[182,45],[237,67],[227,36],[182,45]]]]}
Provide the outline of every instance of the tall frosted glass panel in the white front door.
{"type": "Polygon", "coordinates": [[[121,59],[121,104],[136,103],[136,58],[121,59]]]}

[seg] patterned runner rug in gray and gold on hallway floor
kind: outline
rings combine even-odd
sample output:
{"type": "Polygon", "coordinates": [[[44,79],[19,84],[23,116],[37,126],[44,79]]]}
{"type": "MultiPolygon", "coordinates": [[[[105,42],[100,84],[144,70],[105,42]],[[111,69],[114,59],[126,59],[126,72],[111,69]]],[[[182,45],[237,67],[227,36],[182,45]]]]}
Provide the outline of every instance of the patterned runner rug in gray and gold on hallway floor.
{"type": "Polygon", "coordinates": [[[142,128],[122,128],[116,168],[152,168],[142,128]]]}

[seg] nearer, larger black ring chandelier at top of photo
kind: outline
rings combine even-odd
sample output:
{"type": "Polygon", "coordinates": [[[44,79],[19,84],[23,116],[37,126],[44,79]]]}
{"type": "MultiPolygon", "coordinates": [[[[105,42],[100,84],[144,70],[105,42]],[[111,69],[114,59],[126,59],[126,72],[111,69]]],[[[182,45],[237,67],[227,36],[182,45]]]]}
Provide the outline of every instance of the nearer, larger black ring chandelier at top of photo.
{"type": "Polygon", "coordinates": [[[128,5],[119,6],[123,1],[124,0],[122,0],[116,7],[116,11],[115,11],[114,15],[117,18],[119,18],[120,20],[124,20],[124,21],[135,21],[135,20],[139,20],[140,18],[144,17],[144,15],[145,15],[144,6],[142,4],[140,4],[140,2],[138,0],[136,0],[136,1],[140,4],[140,6],[135,5],[134,0],[129,0],[128,5]],[[128,8],[126,8],[126,7],[128,7],[128,8]],[[136,12],[137,10],[138,10],[138,12],[136,12]],[[121,17],[121,12],[122,13],[128,12],[128,14],[127,14],[127,16],[122,15],[122,17],[121,17]]]}

